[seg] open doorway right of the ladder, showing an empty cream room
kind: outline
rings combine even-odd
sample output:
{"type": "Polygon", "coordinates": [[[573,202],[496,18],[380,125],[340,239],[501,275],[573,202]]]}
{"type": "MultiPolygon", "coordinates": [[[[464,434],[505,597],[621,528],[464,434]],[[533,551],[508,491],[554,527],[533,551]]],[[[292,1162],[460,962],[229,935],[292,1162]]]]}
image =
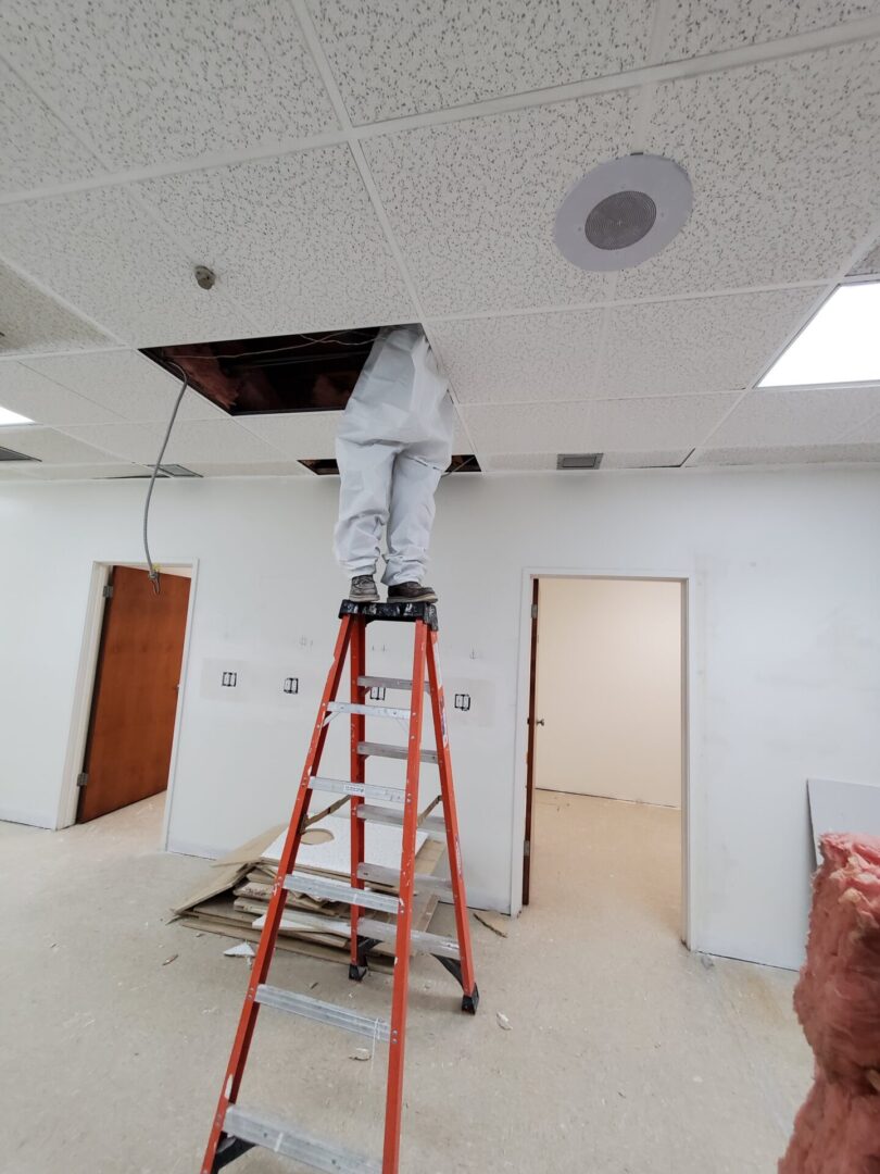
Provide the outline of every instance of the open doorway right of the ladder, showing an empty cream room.
{"type": "Polygon", "coordinates": [[[642,870],[634,897],[677,932],[685,583],[548,575],[532,591],[523,904],[563,861],[590,889],[589,856],[628,886],[642,870]]]}

